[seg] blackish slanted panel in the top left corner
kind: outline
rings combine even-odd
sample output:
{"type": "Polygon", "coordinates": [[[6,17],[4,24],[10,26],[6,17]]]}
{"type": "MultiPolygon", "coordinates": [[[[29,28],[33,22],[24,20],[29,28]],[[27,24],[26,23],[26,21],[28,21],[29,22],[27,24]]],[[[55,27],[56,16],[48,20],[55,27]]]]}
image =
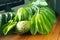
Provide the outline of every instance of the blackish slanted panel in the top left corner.
{"type": "Polygon", "coordinates": [[[6,9],[7,6],[12,8],[21,4],[24,4],[24,0],[0,0],[0,11],[6,9]]]}

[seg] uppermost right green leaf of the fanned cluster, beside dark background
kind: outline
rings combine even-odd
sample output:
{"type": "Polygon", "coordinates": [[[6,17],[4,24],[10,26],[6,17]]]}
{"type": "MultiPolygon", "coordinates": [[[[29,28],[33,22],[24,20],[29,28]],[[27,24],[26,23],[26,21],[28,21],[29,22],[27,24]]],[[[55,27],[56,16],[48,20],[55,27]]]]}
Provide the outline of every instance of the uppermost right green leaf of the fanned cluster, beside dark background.
{"type": "Polygon", "coordinates": [[[53,10],[51,10],[48,7],[41,7],[41,11],[45,12],[46,17],[50,20],[50,22],[54,23],[56,22],[56,16],[55,16],[55,12],[53,10]]]}

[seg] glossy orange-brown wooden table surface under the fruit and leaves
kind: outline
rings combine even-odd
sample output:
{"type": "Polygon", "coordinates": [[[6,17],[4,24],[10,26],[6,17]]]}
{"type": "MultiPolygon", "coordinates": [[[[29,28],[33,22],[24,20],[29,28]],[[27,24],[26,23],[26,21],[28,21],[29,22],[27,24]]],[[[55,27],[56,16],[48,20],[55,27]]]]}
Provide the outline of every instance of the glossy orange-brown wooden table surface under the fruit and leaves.
{"type": "Polygon", "coordinates": [[[48,35],[7,35],[0,37],[0,40],[60,40],[60,19],[53,25],[53,30],[48,35]]]}

